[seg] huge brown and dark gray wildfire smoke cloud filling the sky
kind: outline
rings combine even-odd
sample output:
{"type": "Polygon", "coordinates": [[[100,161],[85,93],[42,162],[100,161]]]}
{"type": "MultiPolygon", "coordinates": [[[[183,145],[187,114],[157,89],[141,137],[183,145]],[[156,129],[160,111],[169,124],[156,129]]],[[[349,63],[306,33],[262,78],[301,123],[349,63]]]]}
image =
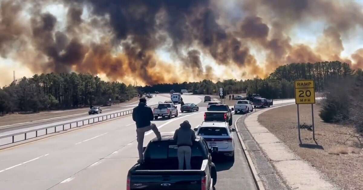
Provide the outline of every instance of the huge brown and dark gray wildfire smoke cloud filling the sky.
{"type": "Polygon", "coordinates": [[[361,51],[350,52],[352,60],[341,57],[342,36],[363,26],[355,1],[3,0],[0,6],[0,55],[33,73],[90,72],[150,85],[265,77],[291,62],[361,64],[361,51]],[[66,15],[56,17],[47,9],[52,4],[62,4],[66,15]],[[317,41],[296,43],[291,30],[311,21],[324,25],[310,34],[317,41]],[[163,60],[166,54],[171,60],[163,60]]]}

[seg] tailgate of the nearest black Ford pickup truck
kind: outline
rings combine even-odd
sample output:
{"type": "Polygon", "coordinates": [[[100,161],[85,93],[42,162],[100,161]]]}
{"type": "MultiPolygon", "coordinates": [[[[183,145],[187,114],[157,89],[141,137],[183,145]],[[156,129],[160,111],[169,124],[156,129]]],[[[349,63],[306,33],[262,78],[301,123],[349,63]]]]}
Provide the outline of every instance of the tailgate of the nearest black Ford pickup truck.
{"type": "Polygon", "coordinates": [[[163,173],[163,175],[148,175],[147,173],[137,172],[132,174],[130,185],[131,190],[199,190],[201,189],[201,176],[200,174],[185,173],[185,170],[183,174],[175,173],[170,175],[166,173],[163,173]]]}

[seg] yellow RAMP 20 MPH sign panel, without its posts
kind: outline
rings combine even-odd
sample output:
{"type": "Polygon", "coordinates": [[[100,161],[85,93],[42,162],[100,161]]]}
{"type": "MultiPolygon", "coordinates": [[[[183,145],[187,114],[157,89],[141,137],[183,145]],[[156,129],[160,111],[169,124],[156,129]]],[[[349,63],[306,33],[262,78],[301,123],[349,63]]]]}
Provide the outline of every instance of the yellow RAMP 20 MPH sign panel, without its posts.
{"type": "Polygon", "coordinates": [[[295,80],[295,103],[315,104],[314,80],[295,80]]]}

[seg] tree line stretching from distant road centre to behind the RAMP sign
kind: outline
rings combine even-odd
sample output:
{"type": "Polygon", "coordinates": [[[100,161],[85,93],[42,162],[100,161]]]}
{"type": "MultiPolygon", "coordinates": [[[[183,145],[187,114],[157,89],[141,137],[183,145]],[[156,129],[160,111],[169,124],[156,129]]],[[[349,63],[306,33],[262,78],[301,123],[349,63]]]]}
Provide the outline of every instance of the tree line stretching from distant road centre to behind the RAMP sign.
{"type": "Polygon", "coordinates": [[[223,80],[213,83],[203,80],[193,83],[157,84],[145,86],[144,92],[169,92],[191,89],[194,94],[218,94],[223,87],[227,94],[258,93],[266,98],[293,98],[294,80],[314,79],[315,90],[323,91],[329,81],[354,75],[354,70],[347,63],[339,61],[317,63],[291,63],[276,68],[266,79],[223,80]]]}

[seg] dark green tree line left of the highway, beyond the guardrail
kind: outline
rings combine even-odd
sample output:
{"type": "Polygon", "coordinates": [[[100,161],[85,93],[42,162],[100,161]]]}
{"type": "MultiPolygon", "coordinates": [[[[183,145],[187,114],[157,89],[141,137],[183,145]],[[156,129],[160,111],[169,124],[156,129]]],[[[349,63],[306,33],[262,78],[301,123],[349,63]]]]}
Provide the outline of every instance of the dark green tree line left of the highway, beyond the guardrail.
{"type": "Polygon", "coordinates": [[[36,74],[0,89],[0,112],[108,105],[109,98],[118,103],[136,95],[132,85],[106,82],[89,73],[36,74]]]}

